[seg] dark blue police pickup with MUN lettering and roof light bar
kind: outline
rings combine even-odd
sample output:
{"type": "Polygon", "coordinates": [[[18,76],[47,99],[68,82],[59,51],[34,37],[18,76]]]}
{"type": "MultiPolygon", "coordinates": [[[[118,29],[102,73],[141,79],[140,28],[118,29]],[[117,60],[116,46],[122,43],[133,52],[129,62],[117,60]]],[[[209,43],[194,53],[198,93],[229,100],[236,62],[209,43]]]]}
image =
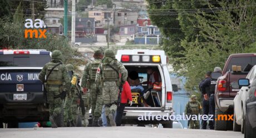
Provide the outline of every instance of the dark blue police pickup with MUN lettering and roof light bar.
{"type": "Polygon", "coordinates": [[[50,60],[46,50],[0,50],[0,124],[48,119],[38,75],[50,60]]]}

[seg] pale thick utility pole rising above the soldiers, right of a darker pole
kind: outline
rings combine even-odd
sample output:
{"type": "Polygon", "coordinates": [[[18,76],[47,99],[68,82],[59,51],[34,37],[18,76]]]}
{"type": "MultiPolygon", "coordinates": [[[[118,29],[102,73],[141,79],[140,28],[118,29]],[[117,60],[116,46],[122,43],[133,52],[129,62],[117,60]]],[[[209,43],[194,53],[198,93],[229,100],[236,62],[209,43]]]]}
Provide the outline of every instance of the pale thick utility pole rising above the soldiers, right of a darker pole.
{"type": "Polygon", "coordinates": [[[76,41],[76,0],[72,0],[72,24],[71,24],[71,43],[76,41]]]}

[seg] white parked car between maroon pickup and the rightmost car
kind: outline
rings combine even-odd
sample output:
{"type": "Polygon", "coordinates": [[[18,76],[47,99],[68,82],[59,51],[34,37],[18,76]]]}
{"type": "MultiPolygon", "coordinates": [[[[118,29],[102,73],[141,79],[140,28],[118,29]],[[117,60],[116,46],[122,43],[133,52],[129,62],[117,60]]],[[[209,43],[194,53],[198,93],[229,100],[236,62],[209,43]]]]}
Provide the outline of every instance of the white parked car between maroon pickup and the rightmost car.
{"type": "MultiPolygon", "coordinates": [[[[256,78],[256,65],[249,71],[246,79],[249,80],[251,84],[253,80],[256,78]]],[[[248,93],[248,86],[242,86],[242,88],[238,91],[237,95],[234,98],[234,122],[233,122],[233,130],[241,131],[244,133],[244,118],[245,118],[245,106],[246,106],[246,95],[248,93]]]]}

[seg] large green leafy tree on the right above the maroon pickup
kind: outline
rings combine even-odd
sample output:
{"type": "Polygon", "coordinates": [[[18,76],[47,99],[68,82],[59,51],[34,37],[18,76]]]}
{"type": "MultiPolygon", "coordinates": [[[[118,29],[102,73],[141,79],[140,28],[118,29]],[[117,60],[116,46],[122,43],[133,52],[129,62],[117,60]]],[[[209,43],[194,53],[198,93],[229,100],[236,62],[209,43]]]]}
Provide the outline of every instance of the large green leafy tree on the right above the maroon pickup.
{"type": "Polygon", "coordinates": [[[222,67],[233,53],[255,52],[256,1],[151,1],[152,23],[164,35],[174,70],[197,90],[206,71],[222,67]]]}

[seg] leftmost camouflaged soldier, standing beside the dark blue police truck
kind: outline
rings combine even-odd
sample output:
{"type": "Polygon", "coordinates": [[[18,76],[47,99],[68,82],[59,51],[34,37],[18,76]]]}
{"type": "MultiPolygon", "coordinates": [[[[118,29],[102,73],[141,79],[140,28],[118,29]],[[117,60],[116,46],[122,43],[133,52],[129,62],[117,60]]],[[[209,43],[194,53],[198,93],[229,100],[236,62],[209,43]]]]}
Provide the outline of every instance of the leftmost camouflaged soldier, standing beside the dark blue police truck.
{"type": "Polygon", "coordinates": [[[65,93],[63,93],[63,91],[68,91],[71,85],[67,68],[62,64],[62,53],[59,50],[52,52],[52,60],[43,67],[40,72],[39,79],[46,86],[47,99],[48,103],[50,104],[49,120],[51,121],[52,127],[56,128],[57,116],[61,115],[63,110],[62,102],[63,98],[65,97],[65,93]],[[52,72],[50,74],[51,70],[52,72]],[[47,81],[45,76],[48,76],[47,81]]]}

